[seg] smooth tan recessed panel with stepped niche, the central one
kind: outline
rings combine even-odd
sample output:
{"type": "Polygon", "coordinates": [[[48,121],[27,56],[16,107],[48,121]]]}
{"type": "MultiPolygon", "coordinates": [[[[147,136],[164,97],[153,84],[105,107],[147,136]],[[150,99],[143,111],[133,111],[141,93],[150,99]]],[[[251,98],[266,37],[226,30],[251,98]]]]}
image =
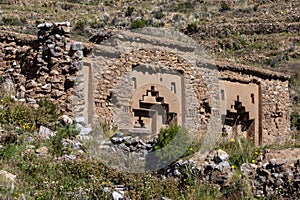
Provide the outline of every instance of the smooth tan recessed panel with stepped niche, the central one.
{"type": "Polygon", "coordinates": [[[132,71],[130,113],[133,129],[158,133],[169,125],[182,124],[182,77],[179,72],[139,66],[132,71]],[[155,73],[155,70],[161,73],[155,73]]]}

